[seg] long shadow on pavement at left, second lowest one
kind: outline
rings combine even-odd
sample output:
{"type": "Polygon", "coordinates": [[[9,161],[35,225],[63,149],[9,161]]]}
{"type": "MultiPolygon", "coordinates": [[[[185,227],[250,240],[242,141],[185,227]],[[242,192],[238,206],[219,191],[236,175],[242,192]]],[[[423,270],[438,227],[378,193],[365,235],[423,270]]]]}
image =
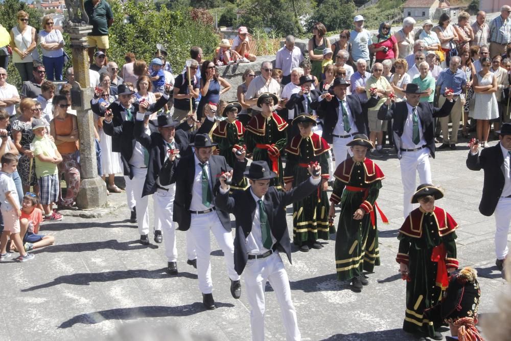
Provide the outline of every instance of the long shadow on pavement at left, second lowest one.
{"type": "Polygon", "coordinates": [[[59,276],[52,282],[39,284],[27,289],[21,289],[21,292],[34,291],[43,288],[49,288],[59,284],[73,284],[73,285],[90,285],[91,282],[112,282],[118,280],[132,279],[132,278],[146,278],[146,279],[166,279],[176,277],[186,277],[190,279],[197,279],[197,275],[190,274],[190,272],[179,272],[177,275],[170,276],[166,272],[167,268],[156,270],[125,270],[125,271],[105,271],[95,272],[92,274],[82,273],[59,276]]]}

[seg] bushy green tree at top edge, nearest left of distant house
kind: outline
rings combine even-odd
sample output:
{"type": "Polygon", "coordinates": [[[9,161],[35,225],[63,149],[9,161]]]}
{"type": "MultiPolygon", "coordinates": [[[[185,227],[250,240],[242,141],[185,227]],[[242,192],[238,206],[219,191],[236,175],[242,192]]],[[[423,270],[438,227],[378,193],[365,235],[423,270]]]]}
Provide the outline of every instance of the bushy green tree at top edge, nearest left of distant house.
{"type": "Polygon", "coordinates": [[[314,22],[322,22],[327,31],[352,27],[355,4],[352,0],[324,0],[312,14],[307,28],[312,31],[314,22]]]}

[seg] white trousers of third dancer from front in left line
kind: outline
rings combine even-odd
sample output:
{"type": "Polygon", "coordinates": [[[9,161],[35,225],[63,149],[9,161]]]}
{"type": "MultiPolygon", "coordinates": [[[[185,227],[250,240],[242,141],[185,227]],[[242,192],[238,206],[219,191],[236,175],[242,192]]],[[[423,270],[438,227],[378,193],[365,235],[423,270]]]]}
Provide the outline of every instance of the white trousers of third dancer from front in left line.
{"type": "Polygon", "coordinates": [[[154,225],[155,229],[159,227],[163,230],[163,241],[165,243],[165,255],[167,256],[167,260],[169,262],[176,262],[176,228],[174,226],[174,221],[172,221],[176,185],[173,184],[169,186],[168,189],[168,191],[156,189],[156,192],[153,194],[154,225]],[[156,221],[158,221],[159,224],[157,224],[156,221]]]}

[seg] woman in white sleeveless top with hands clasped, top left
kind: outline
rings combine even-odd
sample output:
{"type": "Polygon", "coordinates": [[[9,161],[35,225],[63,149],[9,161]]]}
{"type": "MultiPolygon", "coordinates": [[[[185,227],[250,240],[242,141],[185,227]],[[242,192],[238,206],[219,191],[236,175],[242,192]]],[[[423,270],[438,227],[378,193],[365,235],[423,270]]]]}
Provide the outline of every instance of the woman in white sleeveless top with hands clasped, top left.
{"type": "Polygon", "coordinates": [[[32,78],[33,57],[39,59],[37,54],[37,43],[35,28],[28,25],[29,14],[25,11],[16,13],[18,24],[11,29],[12,62],[18,69],[22,82],[32,78]],[[34,52],[35,50],[35,52],[34,52]],[[34,52],[34,53],[32,53],[34,52]]]}

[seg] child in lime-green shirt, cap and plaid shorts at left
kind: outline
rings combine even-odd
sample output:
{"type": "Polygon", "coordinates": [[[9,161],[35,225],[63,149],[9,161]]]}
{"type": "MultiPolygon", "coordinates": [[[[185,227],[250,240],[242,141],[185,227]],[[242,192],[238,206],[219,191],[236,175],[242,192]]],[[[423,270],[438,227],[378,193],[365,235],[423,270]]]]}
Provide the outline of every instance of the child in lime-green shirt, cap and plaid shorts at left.
{"type": "Polygon", "coordinates": [[[32,119],[34,132],[34,157],[37,157],[35,173],[39,179],[41,204],[44,210],[44,221],[60,221],[62,215],[53,212],[53,202],[59,197],[59,178],[57,165],[62,162],[62,156],[57,146],[45,134],[44,123],[39,119],[32,119]]]}

